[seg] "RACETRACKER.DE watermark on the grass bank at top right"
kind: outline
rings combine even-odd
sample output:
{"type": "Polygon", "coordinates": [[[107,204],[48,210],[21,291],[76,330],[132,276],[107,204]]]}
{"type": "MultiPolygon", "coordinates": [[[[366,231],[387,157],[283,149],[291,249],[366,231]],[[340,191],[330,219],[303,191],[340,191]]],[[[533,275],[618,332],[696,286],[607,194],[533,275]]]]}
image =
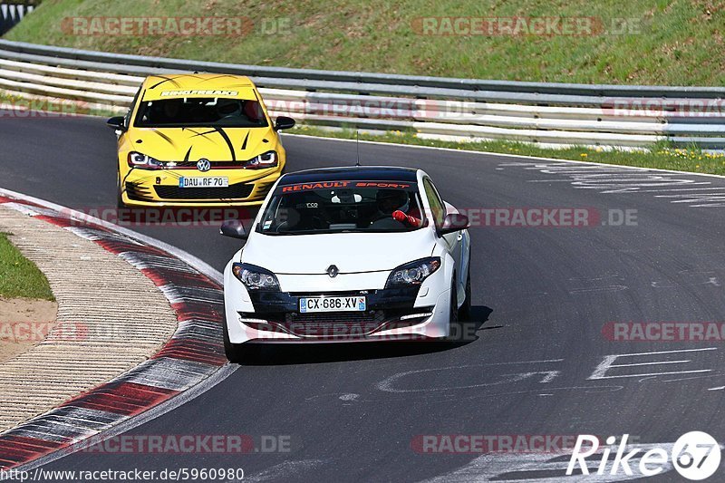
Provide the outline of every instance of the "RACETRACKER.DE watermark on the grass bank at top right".
{"type": "Polygon", "coordinates": [[[642,33],[642,19],[598,16],[426,16],[413,19],[415,34],[430,36],[597,36],[642,33]]]}

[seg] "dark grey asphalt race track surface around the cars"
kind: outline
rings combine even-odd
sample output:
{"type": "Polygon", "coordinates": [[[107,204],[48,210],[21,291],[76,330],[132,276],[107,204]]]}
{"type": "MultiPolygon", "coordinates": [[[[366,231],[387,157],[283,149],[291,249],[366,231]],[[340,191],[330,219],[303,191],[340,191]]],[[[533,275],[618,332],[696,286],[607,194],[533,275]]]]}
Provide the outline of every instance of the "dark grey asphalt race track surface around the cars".
{"type": "MultiPolygon", "coordinates": [[[[0,120],[0,187],[70,208],[113,208],[115,142],[104,123],[0,120]]],[[[354,163],[352,142],[284,141],[288,170],[354,163]]],[[[416,442],[627,433],[666,447],[692,430],[725,440],[721,341],[603,334],[612,322],[725,322],[725,179],[390,145],[361,144],[360,154],[362,164],[425,169],[458,208],[589,208],[601,221],[471,227],[473,315],[484,324],[470,343],[273,348],[132,430],[285,436],[289,452],[76,453],[47,469],[243,468],[251,481],[567,481],[568,459],[556,455],[431,454],[416,442]],[[630,226],[602,225],[624,210],[636,210],[630,226]],[[629,355],[606,359],[616,354],[629,355]]],[[[216,227],[131,228],[220,271],[237,249],[216,227]]],[[[678,478],[670,471],[651,479],[678,478]]]]}

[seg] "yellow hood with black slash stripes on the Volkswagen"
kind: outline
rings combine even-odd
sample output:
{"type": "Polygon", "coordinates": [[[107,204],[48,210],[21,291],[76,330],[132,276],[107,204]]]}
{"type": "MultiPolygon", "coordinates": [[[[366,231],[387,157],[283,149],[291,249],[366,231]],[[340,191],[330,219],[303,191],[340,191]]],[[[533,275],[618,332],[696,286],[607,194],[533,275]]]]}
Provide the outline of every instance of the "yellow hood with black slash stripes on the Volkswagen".
{"type": "Polygon", "coordinates": [[[133,149],[160,161],[252,159],[276,149],[272,128],[134,128],[133,149]]]}

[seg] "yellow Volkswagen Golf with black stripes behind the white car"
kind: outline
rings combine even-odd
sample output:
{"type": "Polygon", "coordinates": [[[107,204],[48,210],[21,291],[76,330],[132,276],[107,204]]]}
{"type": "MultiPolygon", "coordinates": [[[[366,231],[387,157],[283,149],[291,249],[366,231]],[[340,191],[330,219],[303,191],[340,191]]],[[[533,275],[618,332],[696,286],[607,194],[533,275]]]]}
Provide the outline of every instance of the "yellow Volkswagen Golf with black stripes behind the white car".
{"type": "Polygon", "coordinates": [[[285,168],[278,130],[254,83],[240,75],[153,75],[118,135],[119,206],[258,205],[285,168]]]}

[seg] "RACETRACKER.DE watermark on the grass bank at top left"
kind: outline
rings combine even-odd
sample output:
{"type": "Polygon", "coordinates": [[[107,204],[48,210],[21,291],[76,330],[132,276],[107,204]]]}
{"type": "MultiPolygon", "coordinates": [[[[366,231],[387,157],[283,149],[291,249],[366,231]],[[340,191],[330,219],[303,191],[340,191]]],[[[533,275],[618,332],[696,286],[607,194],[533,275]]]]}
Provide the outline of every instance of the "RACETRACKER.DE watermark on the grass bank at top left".
{"type": "Polygon", "coordinates": [[[255,24],[247,16],[73,16],[63,18],[61,31],[66,35],[109,37],[284,35],[292,33],[292,20],[264,18],[255,24]]]}

